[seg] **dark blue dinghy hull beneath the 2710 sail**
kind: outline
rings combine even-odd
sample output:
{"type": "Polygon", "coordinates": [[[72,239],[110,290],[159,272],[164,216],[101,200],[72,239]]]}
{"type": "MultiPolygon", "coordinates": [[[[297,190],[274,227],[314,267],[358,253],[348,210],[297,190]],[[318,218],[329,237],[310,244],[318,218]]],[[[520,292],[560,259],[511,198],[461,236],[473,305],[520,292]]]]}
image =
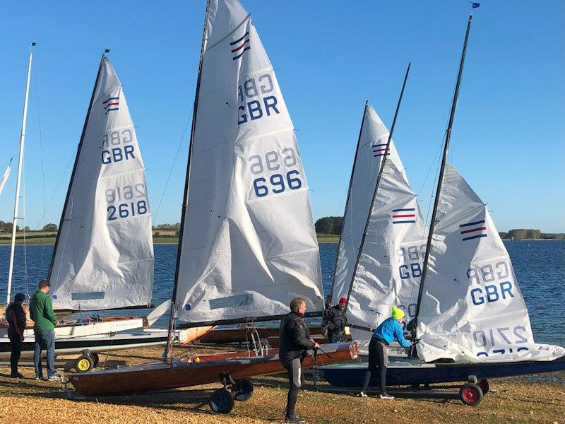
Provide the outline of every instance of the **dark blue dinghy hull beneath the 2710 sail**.
{"type": "MultiPolygon", "coordinates": [[[[335,387],[362,387],[367,363],[319,367],[323,376],[335,387]]],[[[515,377],[565,370],[565,356],[552,361],[474,364],[411,364],[389,365],[387,386],[464,382],[470,375],[477,379],[515,377]]],[[[371,375],[370,386],[379,386],[379,375],[371,375]]]]}

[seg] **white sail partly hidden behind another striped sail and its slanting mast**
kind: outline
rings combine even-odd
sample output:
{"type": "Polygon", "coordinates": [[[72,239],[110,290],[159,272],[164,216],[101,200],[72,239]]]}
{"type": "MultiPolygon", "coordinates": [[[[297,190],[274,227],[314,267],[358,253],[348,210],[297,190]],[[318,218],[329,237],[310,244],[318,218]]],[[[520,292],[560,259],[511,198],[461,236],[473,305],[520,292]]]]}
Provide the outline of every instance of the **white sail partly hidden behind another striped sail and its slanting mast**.
{"type": "MultiPolygon", "coordinates": [[[[381,169],[387,141],[388,129],[379,115],[376,114],[374,108],[367,105],[357,144],[357,152],[355,153],[350,192],[345,205],[343,229],[338,246],[338,259],[335,265],[331,293],[334,303],[347,296],[352,282],[365,223],[367,223],[367,216],[371,213],[375,191],[374,184],[381,169]]],[[[388,151],[388,160],[395,163],[400,173],[405,177],[404,167],[392,140],[388,151]]]]}

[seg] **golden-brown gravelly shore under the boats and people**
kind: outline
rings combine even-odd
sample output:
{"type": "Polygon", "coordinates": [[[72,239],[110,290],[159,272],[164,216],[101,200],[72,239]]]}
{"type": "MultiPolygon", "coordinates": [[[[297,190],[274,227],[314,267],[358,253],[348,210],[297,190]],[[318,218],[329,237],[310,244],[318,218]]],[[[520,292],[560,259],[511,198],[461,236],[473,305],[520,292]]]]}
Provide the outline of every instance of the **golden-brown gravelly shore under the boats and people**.
{"type": "MultiPolygon", "coordinates": [[[[199,349],[200,351],[200,349],[199,349]]],[[[144,348],[100,355],[113,365],[155,360],[162,348],[144,348]]],[[[287,382],[284,377],[252,379],[254,395],[236,402],[226,416],[213,415],[208,396],[220,384],[189,387],[158,394],[84,399],[65,391],[56,382],[31,379],[31,367],[21,367],[25,379],[7,377],[0,368],[0,422],[12,422],[25,413],[28,422],[41,423],[273,423],[283,418],[287,382]]],[[[357,398],[347,394],[314,391],[307,377],[297,404],[297,413],[308,423],[549,423],[564,424],[565,373],[557,381],[528,382],[525,379],[492,380],[491,392],[475,407],[459,401],[432,399],[357,398]],[[560,379],[560,382],[559,382],[560,379]]]]}

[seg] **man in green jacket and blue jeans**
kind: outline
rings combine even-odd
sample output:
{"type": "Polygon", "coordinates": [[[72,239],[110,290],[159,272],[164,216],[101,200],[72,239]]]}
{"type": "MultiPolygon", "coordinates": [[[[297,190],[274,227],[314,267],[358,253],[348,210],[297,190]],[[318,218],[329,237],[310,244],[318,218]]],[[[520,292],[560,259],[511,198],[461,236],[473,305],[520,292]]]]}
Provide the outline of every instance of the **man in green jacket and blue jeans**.
{"type": "Polygon", "coordinates": [[[30,300],[30,317],[33,319],[33,332],[35,334],[35,348],[33,349],[33,363],[35,365],[35,379],[44,379],[41,363],[41,351],[47,351],[47,379],[50,382],[59,380],[55,374],[55,326],[57,318],[53,313],[53,301],[49,293],[49,281],[40,281],[39,290],[30,300]]]}

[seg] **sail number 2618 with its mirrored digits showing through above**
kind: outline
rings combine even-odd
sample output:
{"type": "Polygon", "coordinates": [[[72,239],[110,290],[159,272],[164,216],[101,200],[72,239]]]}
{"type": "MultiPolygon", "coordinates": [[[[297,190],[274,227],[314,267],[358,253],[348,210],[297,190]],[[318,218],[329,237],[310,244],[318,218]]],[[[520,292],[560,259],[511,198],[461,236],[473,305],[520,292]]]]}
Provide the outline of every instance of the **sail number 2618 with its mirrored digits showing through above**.
{"type": "Polygon", "coordinates": [[[106,208],[107,220],[109,221],[145,215],[148,212],[145,184],[110,188],[105,191],[105,195],[108,204],[106,208]]]}

